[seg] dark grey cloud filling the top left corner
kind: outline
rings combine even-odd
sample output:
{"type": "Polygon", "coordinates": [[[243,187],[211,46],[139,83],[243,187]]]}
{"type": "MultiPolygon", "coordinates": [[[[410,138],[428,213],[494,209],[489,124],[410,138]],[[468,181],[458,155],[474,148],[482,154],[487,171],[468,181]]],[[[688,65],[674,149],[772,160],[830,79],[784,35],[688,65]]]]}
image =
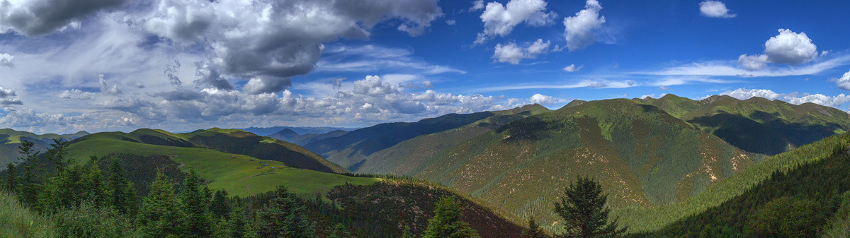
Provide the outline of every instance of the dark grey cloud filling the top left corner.
{"type": "Polygon", "coordinates": [[[0,4],[0,31],[42,36],[67,27],[79,28],[80,20],[127,0],[21,0],[0,4]]]}

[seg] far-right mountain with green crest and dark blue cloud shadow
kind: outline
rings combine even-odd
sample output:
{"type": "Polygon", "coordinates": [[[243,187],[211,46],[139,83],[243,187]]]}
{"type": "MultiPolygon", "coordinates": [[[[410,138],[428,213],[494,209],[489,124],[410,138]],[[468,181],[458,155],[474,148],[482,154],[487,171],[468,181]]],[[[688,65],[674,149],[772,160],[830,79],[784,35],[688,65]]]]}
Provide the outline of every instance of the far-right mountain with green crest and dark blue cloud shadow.
{"type": "Polygon", "coordinates": [[[762,97],[711,96],[695,101],[668,94],[635,99],[653,105],[747,152],[774,155],[850,130],[850,115],[814,103],[762,97]]]}

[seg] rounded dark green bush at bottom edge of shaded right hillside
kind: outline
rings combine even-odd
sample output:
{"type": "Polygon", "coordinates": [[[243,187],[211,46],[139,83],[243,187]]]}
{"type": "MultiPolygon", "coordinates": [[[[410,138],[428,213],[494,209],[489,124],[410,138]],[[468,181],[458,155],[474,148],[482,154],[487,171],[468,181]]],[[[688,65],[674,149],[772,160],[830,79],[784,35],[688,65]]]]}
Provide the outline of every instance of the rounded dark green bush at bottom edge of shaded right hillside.
{"type": "Polygon", "coordinates": [[[759,237],[810,237],[824,224],[824,210],[818,202],[783,196],[751,214],[746,228],[759,237]]]}

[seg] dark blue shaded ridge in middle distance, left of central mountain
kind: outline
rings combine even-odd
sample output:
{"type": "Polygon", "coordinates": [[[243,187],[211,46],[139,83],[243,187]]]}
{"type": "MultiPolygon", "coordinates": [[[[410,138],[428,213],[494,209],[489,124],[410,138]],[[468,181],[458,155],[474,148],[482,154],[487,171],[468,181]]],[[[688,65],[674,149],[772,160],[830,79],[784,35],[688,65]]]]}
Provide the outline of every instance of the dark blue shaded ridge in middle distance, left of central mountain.
{"type": "MultiPolygon", "coordinates": [[[[529,108],[547,110],[539,104],[529,106],[529,108]]],[[[393,147],[401,141],[406,141],[416,136],[456,129],[497,114],[499,113],[450,113],[437,118],[422,119],[417,122],[379,124],[353,130],[343,136],[313,141],[304,147],[323,155],[333,163],[337,163],[349,170],[357,171],[365,163],[366,157],[374,152],[393,147]]]]}

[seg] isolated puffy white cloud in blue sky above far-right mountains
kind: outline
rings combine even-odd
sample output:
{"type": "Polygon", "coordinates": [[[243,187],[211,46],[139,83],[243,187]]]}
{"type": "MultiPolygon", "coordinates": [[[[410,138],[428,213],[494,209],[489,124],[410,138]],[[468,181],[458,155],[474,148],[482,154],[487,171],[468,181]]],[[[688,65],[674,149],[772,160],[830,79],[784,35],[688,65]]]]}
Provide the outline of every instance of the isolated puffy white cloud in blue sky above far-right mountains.
{"type": "Polygon", "coordinates": [[[764,54],[746,55],[738,58],[738,64],[749,70],[761,70],[768,63],[806,64],[818,57],[818,48],[805,32],[796,33],[788,29],[779,29],[779,35],[764,42],[764,54]]]}

